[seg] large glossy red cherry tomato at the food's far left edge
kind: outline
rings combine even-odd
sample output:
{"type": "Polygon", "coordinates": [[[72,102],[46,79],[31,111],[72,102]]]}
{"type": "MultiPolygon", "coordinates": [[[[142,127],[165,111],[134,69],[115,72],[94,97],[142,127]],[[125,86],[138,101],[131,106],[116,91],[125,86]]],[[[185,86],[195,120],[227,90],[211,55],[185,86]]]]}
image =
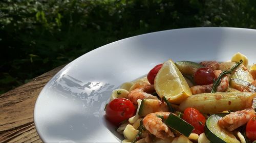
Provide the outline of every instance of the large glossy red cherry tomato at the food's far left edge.
{"type": "Polygon", "coordinates": [[[118,125],[120,122],[133,117],[136,108],[132,101],[126,98],[116,98],[106,105],[105,111],[106,118],[115,125],[118,125]]]}

